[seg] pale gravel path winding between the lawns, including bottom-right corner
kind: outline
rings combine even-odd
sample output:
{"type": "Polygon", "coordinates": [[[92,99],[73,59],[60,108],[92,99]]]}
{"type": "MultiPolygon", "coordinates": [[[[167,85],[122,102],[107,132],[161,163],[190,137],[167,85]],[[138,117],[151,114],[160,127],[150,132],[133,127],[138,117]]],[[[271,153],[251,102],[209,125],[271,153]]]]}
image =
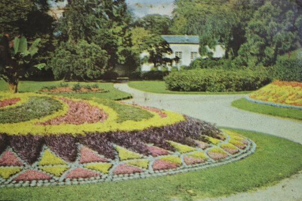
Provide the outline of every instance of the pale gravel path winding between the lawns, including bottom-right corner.
{"type": "MultiPolygon", "coordinates": [[[[239,110],[231,103],[246,95],[178,95],[154,94],[139,91],[128,87],[127,84],[115,84],[115,88],[133,95],[132,100],[143,106],[157,107],[186,114],[217,126],[247,129],[265,132],[271,135],[284,137],[302,144],[302,123],[298,121],[281,119],[278,117],[261,115],[239,110]]],[[[233,201],[233,200],[302,200],[302,174],[294,175],[291,179],[284,179],[275,186],[255,192],[238,193],[227,198],[203,199],[207,201],[233,201]]]]}

